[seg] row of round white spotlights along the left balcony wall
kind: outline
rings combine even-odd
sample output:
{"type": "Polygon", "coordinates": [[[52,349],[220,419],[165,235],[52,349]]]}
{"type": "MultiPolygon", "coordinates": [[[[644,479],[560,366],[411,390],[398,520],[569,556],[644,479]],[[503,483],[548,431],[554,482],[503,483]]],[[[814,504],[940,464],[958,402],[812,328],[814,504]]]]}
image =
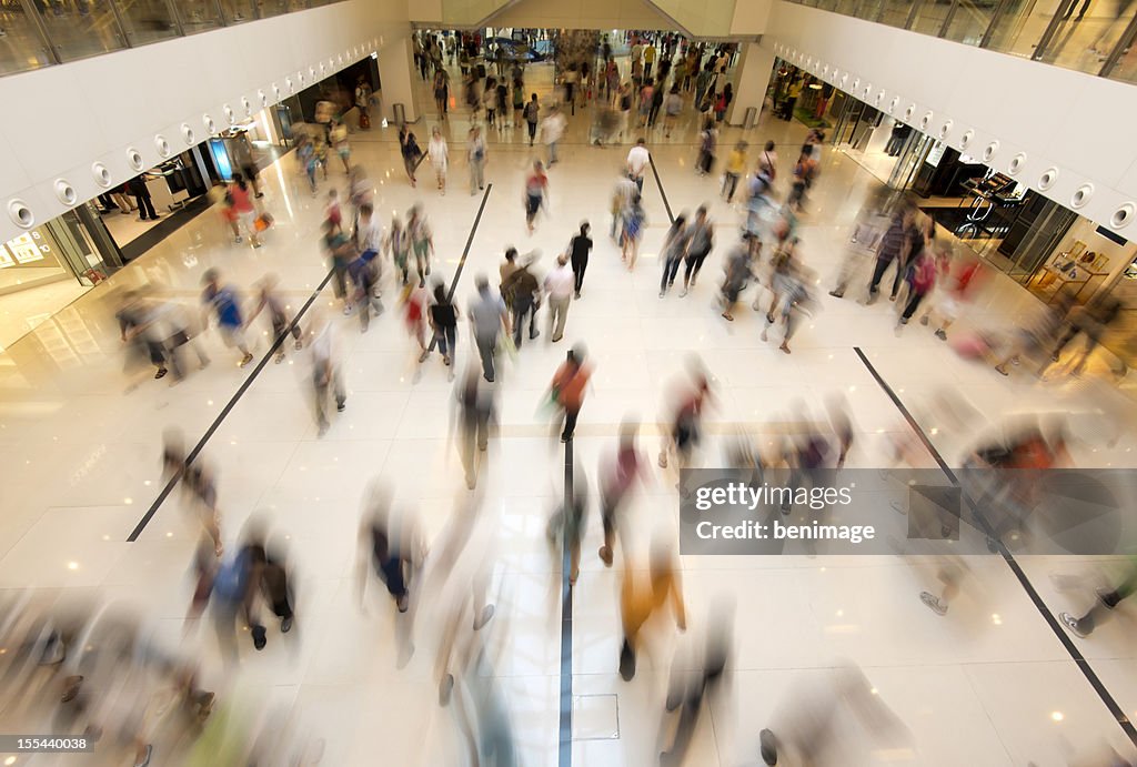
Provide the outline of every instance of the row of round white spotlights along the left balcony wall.
{"type": "MultiPolygon", "coordinates": [[[[214,120],[213,116],[210,116],[209,112],[202,114],[201,126],[205,128],[205,135],[215,136],[221,133],[222,130],[232,127],[242,119],[252,117],[254,111],[259,111],[265,107],[268,107],[271,103],[276,103],[296,93],[297,90],[304,90],[310,83],[316,81],[317,74],[321,77],[324,77],[329,74],[338,72],[339,69],[342,69],[346,64],[350,65],[354,61],[358,61],[359,59],[370,56],[370,51],[374,51],[379,45],[382,45],[382,37],[374,37],[358,45],[354,45],[352,48],[345,50],[342,53],[337,53],[335,56],[329,57],[326,60],[321,60],[309,66],[307,72],[298,70],[294,74],[289,74],[283,78],[283,85],[272,83],[268,86],[269,92],[265,92],[264,89],[258,89],[255,103],[249,100],[248,97],[243,95],[239,101],[240,106],[238,109],[234,109],[229,103],[225,103],[222,107],[222,110],[225,114],[225,128],[218,130],[217,123],[214,120]]],[[[181,142],[184,144],[177,149],[179,152],[197,145],[198,134],[188,122],[182,123],[179,126],[179,133],[181,142]]],[[[174,155],[174,147],[171,144],[169,140],[160,133],[155,134],[153,147],[158,152],[158,156],[164,160],[174,155]]],[[[128,147],[126,149],[126,165],[134,172],[133,175],[138,175],[147,168],[147,162],[142,157],[142,152],[134,147],[128,147]]],[[[99,189],[110,189],[116,185],[110,169],[100,161],[91,164],[91,175],[99,189]]],[[[131,177],[133,177],[133,175],[131,177]]],[[[75,191],[75,187],[66,178],[57,178],[55,184],[52,184],[52,190],[55,191],[56,198],[68,208],[81,202],[78,192],[75,191]]],[[[32,211],[32,208],[27,205],[27,202],[18,198],[14,198],[8,201],[8,217],[16,224],[16,226],[25,230],[32,228],[36,223],[36,217],[32,211]]]]}

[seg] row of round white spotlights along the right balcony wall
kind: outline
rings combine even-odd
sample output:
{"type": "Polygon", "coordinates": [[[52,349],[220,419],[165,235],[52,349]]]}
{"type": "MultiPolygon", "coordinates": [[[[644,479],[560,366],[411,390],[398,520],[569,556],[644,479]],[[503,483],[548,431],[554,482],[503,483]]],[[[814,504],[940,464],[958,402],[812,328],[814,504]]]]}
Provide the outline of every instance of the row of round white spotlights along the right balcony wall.
{"type": "MultiPolygon", "coordinates": [[[[825,80],[831,84],[836,84],[843,91],[856,97],[857,99],[864,101],[865,103],[871,103],[878,109],[902,119],[908,125],[916,126],[922,133],[928,135],[935,135],[940,141],[947,141],[952,136],[952,131],[955,127],[951,118],[945,119],[940,125],[939,130],[932,127],[935,115],[929,110],[923,112],[919,119],[913,119],[916,112],[916,105],[908,103],[903,110],[901,110],[901,97],[893,95],[893,98],[886,103],[885,100],[888,93],[883,89],[874,89],[872,83],[865,83],[862,85],[861,78],[853,75],[849,72],[841,72],[837,67],[830,66],[821,61],[821,59],[815,59],[813,57],[802,53],[796,48],[790,48],[789,45],[782,43],[774,43],[774,53],[780,58],[790,64],[796,65],[800,69],[825,80]]],[[[955,142],[960,149],[969,149],[974,141],[976,132],[972,128],[965,130],[960,134],[955,142]]],[[[984,162],[990,164],[999,152],[999,141],[996,139],[989,142],[979,152],[979,157],[984,162]]],[[[1027,153],[1018,152],[1015,153],[1006,164],[1005,170],[1011,176],[1018,176],[1027,162],[1027,153]]],[[[1035,186],[1045,192],[1054,186],[1059,180],[1059,168],[1051,166],[1039,174],[1038,180],[1035,182],[1035,186]]],[[[1094,184],[1087,182],[1078,186],[1073,194],[1070,197],[1069,205],[1074,210],[1086,207],[1086,203],[1094,197],[1094,184]]],[[[1137,217],[1137,203],[1126,202],[1121,205],[1113,215],[1110,217],[1110,227],[1114,230],[1122,228],[1132,223],[1134,218],[1137,217]]]]}

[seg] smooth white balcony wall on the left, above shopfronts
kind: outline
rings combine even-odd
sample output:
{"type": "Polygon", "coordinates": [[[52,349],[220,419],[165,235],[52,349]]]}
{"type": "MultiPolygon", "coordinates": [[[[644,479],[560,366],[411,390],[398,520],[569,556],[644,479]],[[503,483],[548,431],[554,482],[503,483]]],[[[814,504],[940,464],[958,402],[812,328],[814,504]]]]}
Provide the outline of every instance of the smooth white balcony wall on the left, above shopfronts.
{"type": "Polygon", "coordinates": [[[57,180],[89,200],[103,191],[93,164],[117,185],[138,175],[130,149],[150,168],[164,159],[157,135],[171,155],[182,152],[191,145],[183,124],[199,143],[209,135],[204,115],[223,130],[229,106],[243,122],[263,108],[260,92],[275,103],[290,94],[287,78],[299,92],[408,32],[405,6],[351,0],[0,78],[9,110],[0,122],[0,241],[22,231],[9,215],[13,199],[42,224],[72,207],[58,199],[57,180]]]}

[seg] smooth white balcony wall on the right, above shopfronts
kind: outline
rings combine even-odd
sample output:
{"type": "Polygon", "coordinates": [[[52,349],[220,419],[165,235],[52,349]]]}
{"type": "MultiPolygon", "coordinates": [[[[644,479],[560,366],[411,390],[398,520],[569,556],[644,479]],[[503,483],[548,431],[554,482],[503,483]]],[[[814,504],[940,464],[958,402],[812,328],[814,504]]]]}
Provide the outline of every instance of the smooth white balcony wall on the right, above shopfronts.
{"type": "MultiPolygon", "coordinates": [[[[1001,172],[1021,153],[1012,175],[1056,202],[1071,207],[1077,190],[1093,184],[1077,210],[1099,224],[1137,199],[1137,142],[1126,137],[1137,120],[1132,85],[782,0],[762,44],[838,87],[847,74],[844,90],[886,111],[897,100],[890,114],[916,127],[931,112],[930,135],[939,137],[951,120],[945,141],[969,155],[981,157],[998,142],[988,165],[1001,172]],[[1044,190],[1040,176],[1051,167],[1057,180],[1044,190]]],[[[1137,224],[1118,231],[1137,239],[1137,224]]]]}

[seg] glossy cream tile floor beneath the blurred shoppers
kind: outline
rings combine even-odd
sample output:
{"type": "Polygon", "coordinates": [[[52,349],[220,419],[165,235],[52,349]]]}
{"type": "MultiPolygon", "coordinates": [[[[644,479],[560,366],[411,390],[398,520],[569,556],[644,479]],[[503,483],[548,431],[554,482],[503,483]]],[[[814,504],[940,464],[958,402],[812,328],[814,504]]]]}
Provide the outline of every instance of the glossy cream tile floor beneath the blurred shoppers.
{"type": "MultiPolygon", "coordinates": [[[[529,77],[547,82],[547,73],[538,68],[529,77]]],[[[539,92],[543,95],[547,87],[539,92]]],[[[803,253],[816,272],[822,310],[799,331],[794,353],[763,343],[760,318],[749,310],[738,322],[723,322],[714,308],[715,285],[741,215],[717,197],[715,177],[695,175],[692,123],[686,117],[670,140],[659,131],[647,134],[659,183],[650,176],[645,183],[649,227],[634,273],[622,266],[606,236],[607,203],[626,145],[590,145],[588,109],[571,119],[562,162],[549,175],[550,210],[533,235],[525,232],[521,197],[525,168],[537,151],[522,139],[523,131],[490,132],[484,195],[468,192],[460,150],[467,124],[459,116],[447,125],[453,162],[445,197],[431,183],[429,165],[420,170],[418,189],[408,185],[393,127],[352,136],[384,219],[416,201],[424,205],[434,228],[437,274],[454,276],[473,231],[457,283],[463,308],[474,276],[496,275],[506,245],[539,250],[538,268],[545,269],[579,222],[592,222],[596,250],[566,331],[570,343],[587,343],[596,366],[573,444],[574,465],[586,475],[595,474],[629,416],[644,422],[642,447],[654,455],[664,392],[691,353],[715,376],[704,465],[722,461],[725,439],[736,428],[755,436],[773,433],[802,407],[820,412],[824,398],[836,392],[847,397],[855,423],[849,466],[885,465],[889,437],[911,436],[911,426],[854,347],[915,414],[951,465],[978,427],[962,432],[937,422],[933,403],[945,390],[965,398],[991,423],[1009,414],[1053,410],[1098,423],[1105,412],[1120,440],[1106,447],[1102,430],[1088,428],[1085,441],[1074,445],[1076,459],[1132,465],[1134,408],[1124,382],[1038,383],[1024,374],[1003,378],[956,357],[930,328],[913,324],[897,334],[887,301],[865,307],[824,295],[863,194],[875,183],[840,152],[825,150],[803,220],[803,253]],[[677,214],[711,203],[717,224],[704,278],[683,299],[657,295],[656,255],[669,223],[664,195],[677,214]]],[[[416,130],[428,135],[433,124],[428,118],[416,130]]],[[[728,130],[723,145],[737,135],[728,130]]],[[[785,164],[804,135],[802,125],[766,118],[748,139],[752,144],[775,140],[785,164]]],[[[400,765],[462,765],[468,762],[458,707],[440,708],[437,700],[435,637],[442,606],[450,599],[446,594],[465,593],[468,573],[488,564],[497,612],[483,630],[488,665],[480,673],[504,700],[521,764],[558,764],[561,559],[550,553],[545,532],[563,494],[564,448],[549,437],[541,402],[566,344],[548,343],[546,331],[503,364],[500,435],[491,441],[479,483],[481,515],[464,553],[450,564],[449,580],[441,564],[428,558],[409,659],[400,639],[405,619],[395,617],[389,600],[368,597],[360,610],[354,583],[356,534],[367,487],[376,477],[393,490],[398,508],[417,516],[428,541],[437,543],[451,515],[470,512],[453,444],[453,385],[438,355],[417,366],[417,351],[393,311],[360,334],[356,319],[339,316],[330,290],[321,292],[307,316],[323,312],[333,322],[348,389],[347,409],[323,439],[309,407],[306,351],[289,350],[284,364],[269,361],[256,374],[255,366],[238,368],[234,353],[209,332],[201,342],[213,365],[179,385],[153,381],[146,372],[124,372],[113,315],[131,285],[160,285],[192,307],[202,272],[216,267],[242,290],[266,273],[277,274],[292,310],[313,294],[327,268],[318,244],[323,199],[332,186],[343,193],[342,170],[332,168],[317,198],[307,191],[291,156],[263,178],[265,203],[277,222],[264,248],[230,243],[219,218],[202,215],[0,356],[0,457],[6,466],[0,589],[135,606],[155,636],[202,659],[206,685],[223,699],[279,709],[305,733],[323,739],[322,764],[367,765],[383,758],[400,765]],[[172,493],[139,539],[127,542],[161,490],[164,430],[181,428],[192,444],[215,424],[202,459],[218,472],[225,542],[232,547],[248,519],[267,520],[287,541],[298,578],[297,628],[282,636],[271,627],[264,652],[242,642],[236,673],[225,669],[209,626],[183,631],[198,532],[181,493],[172,493]]],[[[785,185],[779,184],[782,193],[785,185]]],[[[392,306],[393,286],[385,287],[392,306]]],[[[977,324],[1011,328],[1034,301],[996,277],[956,331],[977,324]]],[[[268,343],[267,335],[257,339],[258,360],[268,343]]],[[[457,364],[470,360],[471,343],[463,335],[457,364]]],[[[1090,372],[1096,375],[1097,368],[1090,372]]],[[[935,466],[930,455],[921,460],[935,466]]],[[[671,535],[677,530],[674,476],[655,468],[653,475],[631,509],[633,527],[642,532],[633,539],[633,562],[645,561],[654,528],[671,535]]],[[[808,690],[824,690],[841,659],[864,670],[901,726],[889,731],[894,736],[870,737],[839,708],[832,725],[838,747],[818,755],[816,764],[1044,767],[1103,764],[1094,755],[1106,743],[1132,752],[1068,649],[998,558],[974,558],[969,585],[940,617],[920,602],[920,591],[935,585],[933,576],[913,559],[684,557],[688,630],[677,633],[665,622],[655,626],[650,652],[640,659],[637,677],[625,683],[617,674],[621,568],[606,569],[597,558],[600,536],[594,508],[571,627],[572,686],[579,697],[571,744],[575,765],[647,765],[658,758],[672,658],[680,670],[698,667],[684,659],[706,635],[709,606],[720,597],[736,606],[729,684],[709,716],[700,718],[688,765],[760,764],[760,731],[772,726],[788,732],[808,690]]],[[[1080,609],[1086,599],[1057,591],[1052,574],[1094,573],[1103,566],[1045,558],[1021,564],[1045,609],[1054,614],[1080,609]]],[[[1131,618],[1122,616],[1090,640],[1074,639],[1073,645],[1121,710],[1137,715],[1130,625],[1131,618]]],[[[179,759],[159,749],[155,764],[179,759]]]]}

